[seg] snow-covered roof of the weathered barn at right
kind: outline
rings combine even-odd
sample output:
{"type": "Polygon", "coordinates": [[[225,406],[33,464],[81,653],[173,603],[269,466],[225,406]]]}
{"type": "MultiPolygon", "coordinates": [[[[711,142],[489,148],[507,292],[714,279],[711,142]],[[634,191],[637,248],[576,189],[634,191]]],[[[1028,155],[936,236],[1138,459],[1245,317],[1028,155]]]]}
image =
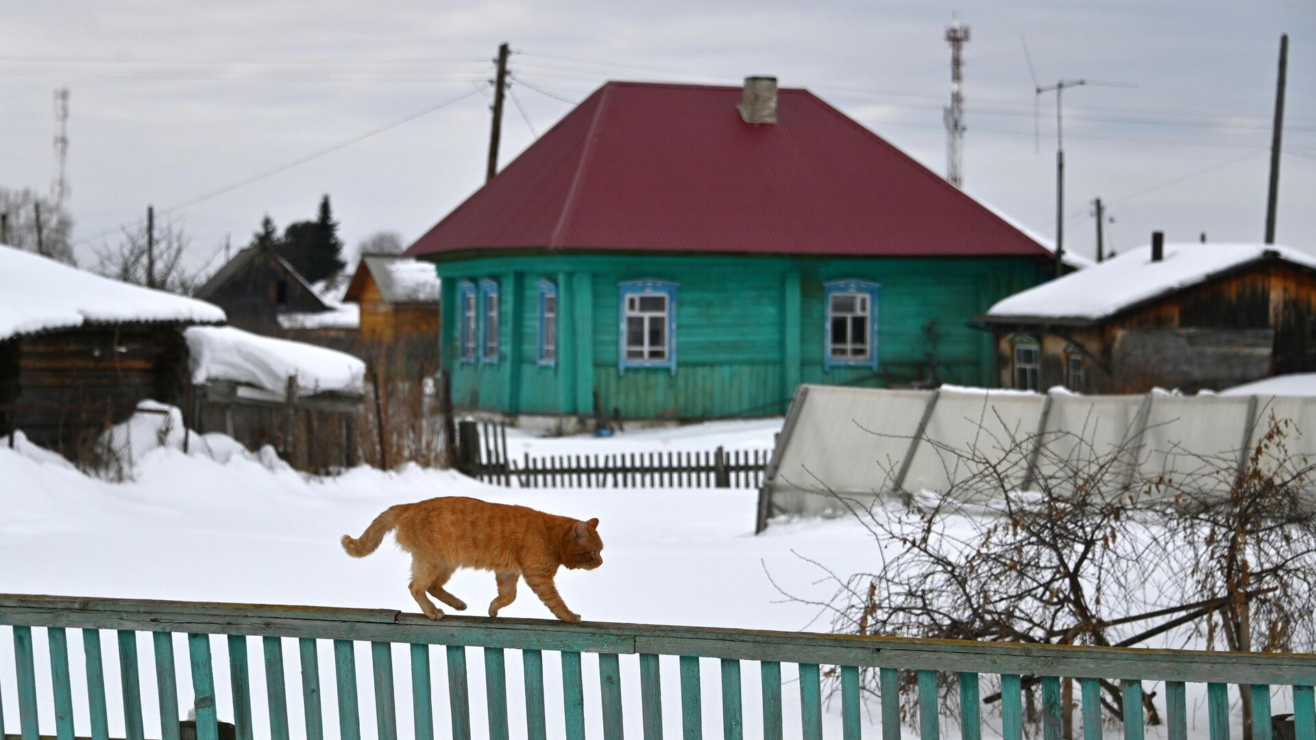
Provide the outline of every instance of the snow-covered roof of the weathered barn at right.
{"type": "Polygon", "coordinates": [[[1316,257],[1274,244],[1166,244],[1159,262],[1142,245],[1000,300],[983,319],[1104,319],[1267,257],[1316,269],[1316,257]]]}

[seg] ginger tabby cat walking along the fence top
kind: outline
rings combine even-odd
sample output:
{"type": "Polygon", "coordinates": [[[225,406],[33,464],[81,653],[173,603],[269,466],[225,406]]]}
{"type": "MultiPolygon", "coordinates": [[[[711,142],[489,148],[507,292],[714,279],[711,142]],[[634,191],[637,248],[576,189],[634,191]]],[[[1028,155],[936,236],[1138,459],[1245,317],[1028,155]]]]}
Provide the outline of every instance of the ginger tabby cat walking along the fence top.
{"type": "Polygon", "coordinates": [[[425,616],[438,610],[425,593],[462,611],[466,602],[443,590],[458,568],[492,570],[497,596],[490,616],[516,599],[516,581],[530,587],[562,621],[580,621],[558,595],[553,577],[559,566],[594,570],[603,565],[597,519],[578,521],[524,506],[488,503],[466,496],[442,496],[388,507],[359,539],[342,536],[342,549],[366,557],[384,535],[396,529],[397,545],[412,556],[411,594],[425,616]]]}

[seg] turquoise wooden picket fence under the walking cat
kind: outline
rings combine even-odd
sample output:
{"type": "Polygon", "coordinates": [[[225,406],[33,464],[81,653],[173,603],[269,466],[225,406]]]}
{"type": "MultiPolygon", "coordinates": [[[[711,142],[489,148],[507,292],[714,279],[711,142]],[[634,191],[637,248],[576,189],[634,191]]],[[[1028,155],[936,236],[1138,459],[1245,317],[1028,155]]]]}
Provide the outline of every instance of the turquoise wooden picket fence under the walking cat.
{"type": "MultiPolygon", "coordinates": [[[[22,740],[57,737],[74,740],[74,686],[68,660],[68,629],[80,629],[86,658],[86,703],[91,737],[108,739],[105,670],[101,657],[101,631],[114,631],[118,643],[118,674],[122,689],[126,740],[143,739],[142,695],[138,672],[138,633],[153,635],[157,691],[159,698],[161,740],[180,740],[179,686],[175,674],[174,635],[187,635],[192,675],[192,700],[197,740],[218,740],[215,670],[211,636],[228,637],[232,715],[240,740],[254,740],[253,702],[249,681],[249,637],[261,637],[267,675],[268,729],[272,740],[290,737],[290,702],[283,665],[283,640],[300,647],[301,711],[305,737],[321,740],[325,720],[321,712],[318,640],[333,643],[338,735],[345,740],[362,737],[358,704],[355,643],[368,643],[375,702],[374,735],[393,740],[399,735],[393,691],[393,645],[409,645],[411,708],[415,737],[436,736],[430,683],[430,647],[446,647],[447,702],[450,728],[438,736],[471,736],[471,697],[467,682],[467,648],[483,648],[487,706],[487,735],[509,736],[508,693],[504,652],[521,650],[525,686],[525,728],[532,740],[586,733],[586,700],[582,681],[582,653],[596,653],[601,693],[604,740],[622,737],[620,656],[638,654],[640,716],[642,736],[657,740],[679,736],[687,740],[705,735],[703,727],[700,658],[721,661],[720,732],[725,739],[744,735],[742,662],[758,662],[762,691],[763,737],[787,736],[782,711],[782,664],[797,664],[800,694],[800,735],[822,737],[822,666],[840,670],[841,727],[845,740],[861,736],[861,670],[876,669],[880,686],[896,685],[899,672],[916,672],[917,726],[921,740],[942,736],[938,711],[938,672],[958,673],[961,698],[959,735],[979,740],[982,732],[979,674],[998,674],[1001,687],[1000,712],[1004,740],[1021,740],[1025,685],[1041,685],[1041,728],[1045,740],[1062,736],[1062,677],[1074,678],[1080,698],[1084,740],[1101,736],[1100,679],[1119,681],[1125,716],[1125,740],[1144,736],[1142,681],[1165,682],[1165,710],[1169,740],[1187,737],[1186,683],[1207,685],[1211,740],[1229,739],[1229,685],[1252,697],[1258,718],[1253,740],[1271,737],[1271,686],[1291,686],[1295,740],[1316,740],[1316,656],[1224,653],[1195,650],[1152,650],[1129,648],[1075,648],[949,640],[908,640],[895,637],[854,637],[797,632],[761,632],[663,627],[650,624],[582,623],[530,619],[476,619],[446,616],[430,621],[420,615],[386,610],[317,608],[303,606],[218,604],[124,599],[80,599],[67,596],[0,595],[0,624],[12,625],[18,728],[22,740]],[[43,628],[49,644],[49,689],[38,691],[34,658],[36,635],[43,628]],[[561,653],[563,723],[550,728],[545,712],[545,650],[561,653]],[[663,727],[663,697],[659,657],[678,656],[680,670],[680,727],[663,727]],[[38,703],[49,690],[53,699],[53,728],[39,727],[38,703]],[[54,729],[54,735],[49,731],[54,729]]],[[[829,673],[830,674],[830,673],[829,673]]],[[[41,683],[45,683],[42,675],[41,683]]],[[[3,685],[4,682],[0,682],[3,685]]],[[[3,698],[3,695],[0,695],[3,698]]],[[[0,703],[0,727],[9,707],[0,703]]],[[[898,691],[880,691],[880,735],[900,737],[898,691]]],[[[791,728],[790,736],[796,736],[791,728]]]]}

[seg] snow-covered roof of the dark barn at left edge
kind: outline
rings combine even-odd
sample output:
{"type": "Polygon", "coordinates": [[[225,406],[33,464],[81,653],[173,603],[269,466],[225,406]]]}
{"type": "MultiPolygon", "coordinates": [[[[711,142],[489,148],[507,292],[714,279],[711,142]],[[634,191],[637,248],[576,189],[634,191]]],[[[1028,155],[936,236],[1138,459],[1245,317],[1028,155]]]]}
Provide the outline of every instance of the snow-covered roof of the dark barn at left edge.
{"type": "Polygon", "coordinates": [[[0,340],[83,324],[221,324],[218,305],[0,245],[0,340]]]}

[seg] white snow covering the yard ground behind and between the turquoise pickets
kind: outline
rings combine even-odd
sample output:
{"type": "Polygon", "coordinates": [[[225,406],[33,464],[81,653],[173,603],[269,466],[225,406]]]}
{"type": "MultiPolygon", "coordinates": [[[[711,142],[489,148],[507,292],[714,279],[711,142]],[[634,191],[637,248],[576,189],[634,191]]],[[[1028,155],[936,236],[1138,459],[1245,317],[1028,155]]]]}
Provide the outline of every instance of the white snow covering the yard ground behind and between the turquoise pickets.
{"type": "MultiPolygon", "coordinates": [[[[139,417],[142,419],[142,417],[139,417]]],[[[155,421],[137,436],[163,440],[153,450],[134,449],[134,467],[124,483],[111,483],[67,465],[51,463],[28,450],[25,454],[0,446],[0,591],[82,596],[183,599],[246,603],[291,603],[342,607],[395,608],[415,612],[407,593],[408,558],[391,539],[365,560],[347,557],[338,539],[357,536],[383,508],[437,495],[472,495],[487,500],[519,503],[575,516],[599,517],[605,542],[605,562],[594,571],[563,571],[558,586],[567,604],[586,620],[636,621],[738,627],[747,629],[825,629],[816,620],[817,608],[783,602],[774,579],[791,593],[826,599],[832,587],[819,582],[817,561],[836,573],[870,570],[878,561],[867,532],[851,520],[775,524],[762,536],[753,535],[755,492],[751,490],[574,490],[501,489],[455,473],[405,466],[393,473],[367,467],[336,478],[299,474],[287,466],[266,465],[258,456],[234,454],[218,460],[193,452],[186,456],[174,444],[174,429],[155,421]],[[796,554],[797,553],[797,554],[796,554]]],[[[625,432],[612,438],[566,437],[534,440],[517,436],[516,449],[547,454],[554,449],[612,448],[708,449],[766,448],[779,429],[779,419],[719,421],[675,429],[625,432]]],[[[512,438],[509,438],[509,444],[512,438]]],[[[29,445],[30,446],[30,445],[29,445]]],[[[149,445],[146,445],[149,446],[149,445]]],[[[488,573],[459,571],[449,589],[466,599],[471,614],[480,614],[496,589],[488,573]]],[[[529,591],[520,589],[504,616],[549,618],[547,610],[529,591]]],[[[3,629],[0,629],[3,631],[3,629]]],[[[53,727],[49,657],[45,636],[36,635],[38,695],[42,727],[53,727]]],[[[187,656],[182,636],[175,636],[175,654],[187,656]]],[[[82,641],[70,639],[72,685],[84,686],[82,641]]],[[[116,677],[117,647],[103,635],[111,736],[122,736],[121,700],[116,677]]],[[[259,654],[259,647],[249,647],[259,654]]],[[[146,736],[158,737],[158,704],[151,643],[138,636],[142,703],[146,736]]],[[[228,648],[212,639],[216,689],[221,718],[232,718],[228,648]]],[[[405,645],[393,649],[399,736],[412,735],[409,706],[409,654],[405,645]]],[[[562,689],[559,657],[546,652],[545,703],[550,736],[561,736],[562,689]]],[[[471,718],[478,737],[486,732],[483,658],[467,650],[471,718]]],[[[191,675],[186,657],[178,658],[183,702],[188,700],[191,675]]],[[[303,735],[297,649],[284,641],[290,681],[288,718],[292,736],[303,735]]],[[[446,661],[441,648],[432,648],[434,723],[437,736],[449,735],[446,661]]],[[[524,689],[520,653],[507,652],[507,695],[512,736],[525,736],[524,689]]],[[[0,639],[0,704],[17,707],[12,641],[0,639]]],[[[638,737],[638,658],[622,656],[625,729],[638,737]]],[[[337,733],[334,662],[328,643],[320,644],[320,670],[326,736],[337,733]]],[[[371,658],[366,645],[357,645],[361,727],[363,736],[375,731],[371,658]]],[[[783,666],[783,703],[788,736],[796,736],[799,691],[794,666],[783,666]]],[[[665,726],[670,736],[680,728],[680,686],[676,658],[662,665],[665,726]]],[[[704,727],[709,736],[721,726],[717,661],[703,661],[704,727]]],[[[251,660],[251,699],[257,737],[267,737],[263,661],[251,660]]],[[[762,735],[758,666],[742,668],[745,736],[762,735]]],[[[1150,689],[1150,685],[1149,685],[1150,689]]],[[[597,660],[584,658],[584,697],[588,736],[601,736],[597,660]]],[[[1196,697],[1190,689],[1190,702],[1196,697]]],[[[1163,695],[1163,693],[1162,693],[1163,695]]],[[[88,733],[86,697],[74,691],[76,732],[88,733]]],[[[1196,706],[1196,704],[1190,704],[1196,706]]],[[[1280,706],[1277,703],[1277,707],[1280,706]]],[[[878,736],[875,706],[865,712],[865,735],[878,736]]],[[[1278,710],[1277,710],[1278,711],[1278,710]]],[[[184,707],[186,714],[186,707],[184,707]]],[[[17,732],[17,711],[5,712],[8,732],[17,732]]],[[[988,724],[996,722],[988,718],[988,724]]],[[[1204,708],[1194,715],[1192,735],[1205,736],[1204,708]],[[1200,715],[1200,716],[1198,716],[1200,715]]],[[[825,736],[840,736],[840,704],[825,708],[825,736]]],[[[950,722],[949,719],[946,722],[950,722]]],[[[1237,722],[1237,719],[1236,719],[1237,722]]],[[[953,727],[953,726],[948,726],[953,727]]],[[[948,729],[949,731],[949,729],[948,729]]],[[[913,736],[907,729],[907,736],[913,736]]],[[[988,733],[992,732],[988,729],[988,733]]],[[[1117,726],[1108,727],[1112,736],[1117,726]]],[[[1162,737],[1161,728],[1148,728],[1148,737],[1162,737]]]]}

